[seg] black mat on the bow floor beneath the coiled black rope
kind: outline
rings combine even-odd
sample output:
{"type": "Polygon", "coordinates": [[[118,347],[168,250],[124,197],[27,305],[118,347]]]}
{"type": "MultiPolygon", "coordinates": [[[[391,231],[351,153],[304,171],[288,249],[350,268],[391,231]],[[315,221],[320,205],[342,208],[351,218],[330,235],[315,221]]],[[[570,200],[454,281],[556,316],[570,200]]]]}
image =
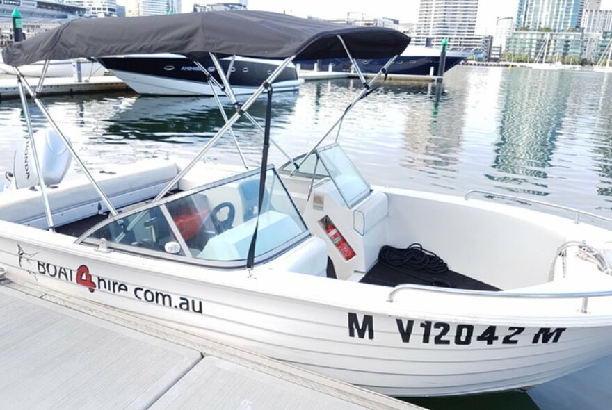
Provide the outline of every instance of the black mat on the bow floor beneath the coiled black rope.
{"type": "Polygon", "coordinates": [[[452,270],[439,274],[431,274],[420,270],[387,265],[387,263],[380,261],[371,268],[360,282],[362,284],[382,286],[414,284],[470,290],[501,290],[452,270]]]}

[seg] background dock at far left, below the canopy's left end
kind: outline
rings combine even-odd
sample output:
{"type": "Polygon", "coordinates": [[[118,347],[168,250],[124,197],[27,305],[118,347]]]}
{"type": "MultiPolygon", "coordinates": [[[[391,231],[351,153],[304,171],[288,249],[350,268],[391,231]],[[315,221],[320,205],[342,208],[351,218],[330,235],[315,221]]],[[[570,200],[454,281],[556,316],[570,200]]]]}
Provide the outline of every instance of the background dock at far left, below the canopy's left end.
{"type": "MultiPolygon", "coordinates": [[[[36,88],[38,78],[30,77],[28,83],[36,88]]],[[[42,85],[42,95],[73,95],[93,92],[130,91],[123,81],[115,76],[92,76],[78,83],[72,77],[49,77],[42,85]]],[[[17,77],[0,79],[0,101],[18,99],[17,77]]]]}

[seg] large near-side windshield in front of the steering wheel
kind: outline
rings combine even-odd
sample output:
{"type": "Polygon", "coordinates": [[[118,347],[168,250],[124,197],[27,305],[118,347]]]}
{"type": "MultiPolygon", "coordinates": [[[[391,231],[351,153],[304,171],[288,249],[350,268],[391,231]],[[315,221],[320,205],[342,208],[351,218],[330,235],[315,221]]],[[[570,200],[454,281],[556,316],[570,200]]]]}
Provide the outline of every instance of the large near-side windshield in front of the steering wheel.
{"type": "Polygon", "coordinates": [[[309,235],[272,167],[259,222],[258,200],[259,171],[248,172],[120,214],[95,227],[83,242],[104,238],[108,247],[130,252],[163,252],[234,267],[244,265],[256,225],[256,261],[270,259],[309,235]]]}

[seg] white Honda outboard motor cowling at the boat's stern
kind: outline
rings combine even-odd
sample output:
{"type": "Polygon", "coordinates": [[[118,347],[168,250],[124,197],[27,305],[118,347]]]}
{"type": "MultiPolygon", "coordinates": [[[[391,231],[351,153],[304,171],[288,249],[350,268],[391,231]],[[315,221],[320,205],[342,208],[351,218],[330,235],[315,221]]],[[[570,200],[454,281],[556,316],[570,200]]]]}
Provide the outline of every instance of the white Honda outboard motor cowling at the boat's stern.
{"type": "MultiPolygon", "coordinates": [[[[45,185],[60,183],[70,167],[70,152],[60,136],[52,129],[41,129],[34,133],[38,163],[42,169],[45,185]]],[[[68,139],[70,142],[70,139],[68,139]]],[[[15,151],[13,175],[16,188],[38,185],[38,173],[34,163],[30,140],[15,151]]]]}

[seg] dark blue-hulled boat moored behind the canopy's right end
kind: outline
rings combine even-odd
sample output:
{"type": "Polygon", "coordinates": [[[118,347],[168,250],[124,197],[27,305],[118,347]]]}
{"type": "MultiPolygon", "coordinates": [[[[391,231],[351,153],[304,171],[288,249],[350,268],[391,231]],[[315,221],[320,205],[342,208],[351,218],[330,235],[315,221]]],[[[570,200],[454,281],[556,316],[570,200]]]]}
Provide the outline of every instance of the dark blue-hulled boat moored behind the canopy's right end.
{"type": "MultiPolygon", "coordinates": [[[[446,52],[446,65],[444,72],[455,67],[469,56],[469,51],[451,50],[446,52]]],[[[348,58],[328,58],[319,60],[319,67],[322,70],[327,70],[329,65],[332,65],[332,71],[335,72],[351,72],[351,61],[348,58]]],[[[314,60],[300,62],[302,69],[314,69],[314,60]]],[[[358,59],[357,63],[362,72],[367,74],[376,74],[387,63],[385,59],[358,59]]],[[[440,50],[432,47],[409,46],[405,51],[396,58],[394,63],[387,69],[388,74],[400,74],[409,76],[428,76],[440,75],[438,67],[440,65],[440,50]]]]}

